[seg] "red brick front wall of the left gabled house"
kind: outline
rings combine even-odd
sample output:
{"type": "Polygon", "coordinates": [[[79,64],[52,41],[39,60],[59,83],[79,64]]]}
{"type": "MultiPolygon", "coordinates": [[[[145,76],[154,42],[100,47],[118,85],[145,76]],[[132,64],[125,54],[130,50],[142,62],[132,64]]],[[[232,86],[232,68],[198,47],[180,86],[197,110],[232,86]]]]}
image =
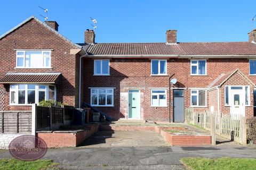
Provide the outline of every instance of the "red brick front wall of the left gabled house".
{"type": "MultiPolygon", "coordinates": [[[[0,78],[7,72],[61,72],[60,84],[57,86],[57,100],[75,105],[77,83],[75,82],[76,55],[70,54],[70,49],[76,49],[68,41],[60,38],[54,32],[45,28],[35,19],[31,19],[18,29],[0,40],[0,78]],[[52,69],[15,69],[15,49],[53,49],[52,69]]],[[[79,67],[78,67],[79,68],[79,67]]],[[[5,91],[5,110],[28,110],[30,107],[9,106],[9,86],[0,85],[5,91]]],[[[76,102],[76,105],[78,102],[76,102]]]]}

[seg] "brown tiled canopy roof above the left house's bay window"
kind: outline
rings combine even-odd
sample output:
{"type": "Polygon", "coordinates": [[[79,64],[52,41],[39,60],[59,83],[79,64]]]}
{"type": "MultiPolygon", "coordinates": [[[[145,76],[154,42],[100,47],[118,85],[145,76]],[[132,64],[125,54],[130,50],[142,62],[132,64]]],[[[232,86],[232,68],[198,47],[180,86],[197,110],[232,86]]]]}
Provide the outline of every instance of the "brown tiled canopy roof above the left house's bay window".
{"type": "Polygon", "coordinates": [[[58,83],[61,73],[7,73],[0,79],[1,84],[10,83],[58,83]]]}

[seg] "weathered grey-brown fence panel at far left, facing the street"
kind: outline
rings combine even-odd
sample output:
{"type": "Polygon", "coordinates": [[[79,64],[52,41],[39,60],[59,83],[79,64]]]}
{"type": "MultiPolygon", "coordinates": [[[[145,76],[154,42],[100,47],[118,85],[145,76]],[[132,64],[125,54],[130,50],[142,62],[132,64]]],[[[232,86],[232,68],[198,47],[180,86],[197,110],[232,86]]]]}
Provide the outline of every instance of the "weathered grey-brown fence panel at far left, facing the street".
{"type": "Polygon", "coordinates": [[[0,111],[0,133],[31,133],[31,111],[0,111]]]}

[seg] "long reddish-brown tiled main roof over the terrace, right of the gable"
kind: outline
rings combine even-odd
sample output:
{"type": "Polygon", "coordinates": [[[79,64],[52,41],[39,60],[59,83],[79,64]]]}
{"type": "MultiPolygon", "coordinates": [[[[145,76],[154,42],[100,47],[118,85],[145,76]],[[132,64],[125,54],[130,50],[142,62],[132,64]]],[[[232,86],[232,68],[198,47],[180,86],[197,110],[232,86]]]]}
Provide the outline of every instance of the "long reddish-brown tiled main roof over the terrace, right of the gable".
{"type": "Polygon", "coordinates": [[[256,44],[230,43],[97,43],[78,44],[88,55],[256,55],[256,44]]]}

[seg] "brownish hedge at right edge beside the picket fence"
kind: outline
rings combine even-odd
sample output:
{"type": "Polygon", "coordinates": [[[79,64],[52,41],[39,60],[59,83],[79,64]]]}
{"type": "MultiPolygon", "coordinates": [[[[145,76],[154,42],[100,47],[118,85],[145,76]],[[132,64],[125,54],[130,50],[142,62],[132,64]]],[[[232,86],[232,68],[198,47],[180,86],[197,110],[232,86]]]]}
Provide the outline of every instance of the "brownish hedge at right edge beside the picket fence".
{"type": "Polygon", "coordinates": [[[256,144],[256,117],[247,119],[247,140],[256,144]]]}

